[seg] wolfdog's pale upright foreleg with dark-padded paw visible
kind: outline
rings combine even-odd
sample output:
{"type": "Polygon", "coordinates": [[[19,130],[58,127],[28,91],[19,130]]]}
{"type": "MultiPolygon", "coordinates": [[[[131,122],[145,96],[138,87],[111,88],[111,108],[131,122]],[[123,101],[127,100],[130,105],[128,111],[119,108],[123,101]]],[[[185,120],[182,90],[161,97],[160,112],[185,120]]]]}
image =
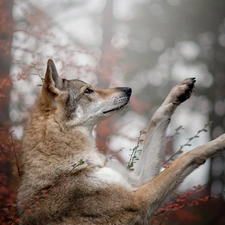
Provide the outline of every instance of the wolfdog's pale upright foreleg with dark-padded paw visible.
{"type": "Polygon", "coordinates": [[[144,184],[154,178],[160,171],[166,145],[166,129],[177,106],[187,100],[194,87],[195,79],[185,79],[170,91],[169,95],[153,115],[144,142],[140,159],[134,173],[144,184]]]}

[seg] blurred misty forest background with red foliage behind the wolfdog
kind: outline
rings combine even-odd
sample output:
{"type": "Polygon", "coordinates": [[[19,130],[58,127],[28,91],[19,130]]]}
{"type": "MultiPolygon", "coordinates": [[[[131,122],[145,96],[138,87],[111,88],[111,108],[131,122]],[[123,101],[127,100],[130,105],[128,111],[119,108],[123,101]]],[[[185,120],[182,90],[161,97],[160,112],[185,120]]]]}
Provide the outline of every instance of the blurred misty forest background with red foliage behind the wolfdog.
{"type": "MultiPolygon", "coordinates": [[[[224,133],[224,0],[0,0],[1,224],[21,222],[20,141],[48,58],[62,77],[132,87],[129,108],[96,128],[99,150],[111,158],[129,160],[139,132],[187,77],[196,77],[195,93],[173,117],[165,160],[224,133]]],[[[221,154],[190,175],[151,224],[224,225],[224,190],[221,154]]]]}

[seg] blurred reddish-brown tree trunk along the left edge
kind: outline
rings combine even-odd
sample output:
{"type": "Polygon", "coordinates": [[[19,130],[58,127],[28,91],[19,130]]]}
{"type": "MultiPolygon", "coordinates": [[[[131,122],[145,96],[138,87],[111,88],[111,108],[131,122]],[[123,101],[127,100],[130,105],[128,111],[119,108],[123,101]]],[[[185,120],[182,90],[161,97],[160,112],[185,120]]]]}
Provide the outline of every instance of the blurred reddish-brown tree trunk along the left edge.
{"type": "MultiPolygon", "coordinates": [[[[12,64],[11,46],[14,33],[14,19],[12,16],[13,0],[0,0],[0,221],[4,224],[2,206],[10,204],[10,199],[15,199],[12,163],[14,157],[12,145],[9,141],[10,134],[10,91],[12,88],[10,69],[12,64]],[[11,183],[11,184],[10,184],[11,183]],[[2,220],[3,219],[3,220],[2,220]]],[[[15,210],[11,210],[14,214],[15,210]]],[[[11,215],[12,215],[11,214],[11,215]]]]}

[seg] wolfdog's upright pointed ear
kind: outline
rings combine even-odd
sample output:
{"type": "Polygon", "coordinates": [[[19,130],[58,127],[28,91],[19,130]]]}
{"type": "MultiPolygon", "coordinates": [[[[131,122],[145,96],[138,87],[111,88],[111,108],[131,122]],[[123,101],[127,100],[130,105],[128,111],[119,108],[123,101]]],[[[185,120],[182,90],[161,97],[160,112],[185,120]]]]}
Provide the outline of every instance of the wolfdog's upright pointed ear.
{"type": "Polygon", "coordinates": [[[58,75],[53,60],[49,59],[43,84],[43,90],[52,95],[59,95],[61,88],[62,79],[58,75]]]}

